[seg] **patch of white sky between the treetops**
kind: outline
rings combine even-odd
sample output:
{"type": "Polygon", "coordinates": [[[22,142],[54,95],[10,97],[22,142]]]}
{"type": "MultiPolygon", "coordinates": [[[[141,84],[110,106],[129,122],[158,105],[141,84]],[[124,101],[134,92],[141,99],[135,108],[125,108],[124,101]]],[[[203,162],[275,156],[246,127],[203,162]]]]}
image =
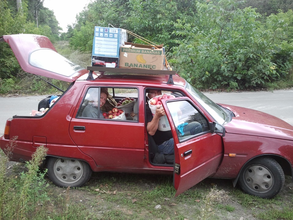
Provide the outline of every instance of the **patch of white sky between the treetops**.
{"type": "Polygon", "coordinates": [[[54,11],[59,26],[63,29],[61,32],[67,31],[67,25],[75,23],[76,15],[91,0],[45,0],[43,5],[54,11]]]}

